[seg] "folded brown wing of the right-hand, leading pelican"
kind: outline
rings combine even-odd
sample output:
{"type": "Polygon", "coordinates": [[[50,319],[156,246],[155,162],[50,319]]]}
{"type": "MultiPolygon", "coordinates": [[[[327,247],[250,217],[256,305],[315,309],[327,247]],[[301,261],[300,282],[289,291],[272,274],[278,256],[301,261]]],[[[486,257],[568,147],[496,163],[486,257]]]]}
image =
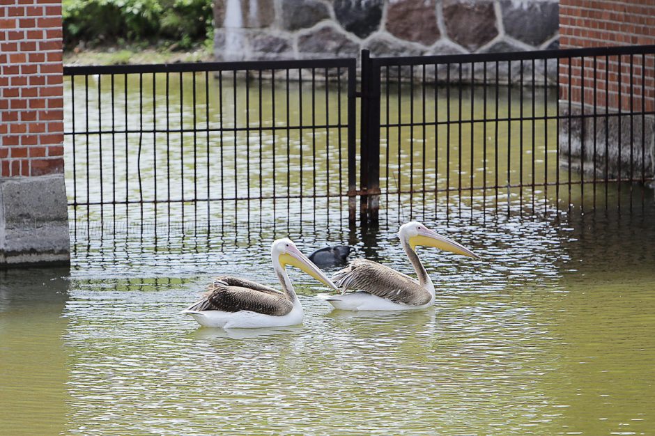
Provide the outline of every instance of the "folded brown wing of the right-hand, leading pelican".
{"type": "Polygon", "coordinates": [[[392,302],[421,306],[431,295],[406,274],[366,259],[356,259],[332,277],[342,292],[363,290],[392,302]]]}

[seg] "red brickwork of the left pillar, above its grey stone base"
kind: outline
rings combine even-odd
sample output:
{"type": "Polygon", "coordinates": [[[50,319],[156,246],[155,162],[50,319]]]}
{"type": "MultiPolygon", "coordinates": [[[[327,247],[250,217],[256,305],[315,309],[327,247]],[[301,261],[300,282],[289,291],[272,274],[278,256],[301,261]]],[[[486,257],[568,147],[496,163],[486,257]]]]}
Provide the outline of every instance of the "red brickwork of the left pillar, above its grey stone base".
{"type": "Polygon", "coordinates": [[[0,177],[63,172],[61,0],[0,2],[0,177]]]}

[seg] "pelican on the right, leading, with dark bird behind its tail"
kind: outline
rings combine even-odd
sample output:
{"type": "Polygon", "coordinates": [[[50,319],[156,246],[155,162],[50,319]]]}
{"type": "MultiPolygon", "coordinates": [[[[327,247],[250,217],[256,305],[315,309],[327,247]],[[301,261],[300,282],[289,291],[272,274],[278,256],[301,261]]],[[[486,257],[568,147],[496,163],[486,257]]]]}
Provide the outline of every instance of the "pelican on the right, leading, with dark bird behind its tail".
{"type": "Polygon", "coordinates": [[[417,221],[401,226],[401,245],[410,259],[418,280],[366,259],[353,260],[338,271],[332,281],[341,288],[341,295],[330,295],[327,301],[346,311],[406,311],[424,309],[434,304],[434,284],[426,272],[415,247],[437,247],[472,258],[477,254],[463,245],[431,231],[417,221]],[[348,290],[355,292],[347,293],[348,290]]]}

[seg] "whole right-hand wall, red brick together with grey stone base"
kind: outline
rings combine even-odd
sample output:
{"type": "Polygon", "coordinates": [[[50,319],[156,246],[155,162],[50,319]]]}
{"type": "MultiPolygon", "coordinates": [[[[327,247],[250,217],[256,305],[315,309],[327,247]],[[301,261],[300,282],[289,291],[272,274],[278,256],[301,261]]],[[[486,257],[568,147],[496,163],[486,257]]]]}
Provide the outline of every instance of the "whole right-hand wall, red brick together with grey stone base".
{"type": "MultiPolygon", "coordinates": [[[[655,44],[655,2],[652,0],[561,0],[560,44],[562,48],[607,47],[615,45],[655,44]]],[[[611,56],[606,63],[604,56],[596,58],[596,83],[594,86],[594,59],[567,59],[560,62],[560,114],[580,114],[584,109],[596,111],[653,111],[655,109],[655,55],[611,56]],[[632,67],[631,67],[632,61],[632,67]],[[643,65],[642,65],[643,64],[643,65]],[[632,73],[632,78],[631,78],[632,73]],[[569,79],[570,76],[570,79],[569,79]],[[583,95],[584,77],[584,95],[583,95]],[[642,81],[642,77],[644,80],[642,81]],[[606,79],[609,79],[606,86],[606,79]],[[569,83],[570,82],[570,83],[569,83]],[[595,101],[594,101],[594,88],[595,101]],[[632,98],[631,98],[632,91],[632,98]],[[620,95],[620,98],[619,98],[620,95]]],[[[596,120],[596,176],[617,177],[619,163],[622,177],[629,171],[647,177],[655,173],[655,134],[653,116],[610,117],[608,126],[604,119],[596,120]],[[620,125],[619,125],[620,124],[620,125]],[[632,127],[631,127],[632,125],[632,127]],[[608,150],[606,153],[606,130],[608,150]],[[642,137],[644,141],[642,143],[642,137]],[[601,144],[601,146],[598,146],[601,144]],[[620,145],[620,162],[619,162],[620,145]],[[631,148],[633,159],[630,159],[631,148]],[[643,151],[643,159],[642,159],[643,151]],[[605,166],[606,154],[608,168],[605,166]]],[[[574,120],[569,126],[560,123],[560,154],[568,163],[569,155],[574,169],[594,168],[593,120],[584,125],[574,120]],[[569,146],[569,130],[571,144],[569,146]],[[585,136],[583,137],[583,132],[585,136]],[[584,146],[584,148],[583,148],[584,146]],[[584,161],[584,163],[583,163],[584,161]]]]}

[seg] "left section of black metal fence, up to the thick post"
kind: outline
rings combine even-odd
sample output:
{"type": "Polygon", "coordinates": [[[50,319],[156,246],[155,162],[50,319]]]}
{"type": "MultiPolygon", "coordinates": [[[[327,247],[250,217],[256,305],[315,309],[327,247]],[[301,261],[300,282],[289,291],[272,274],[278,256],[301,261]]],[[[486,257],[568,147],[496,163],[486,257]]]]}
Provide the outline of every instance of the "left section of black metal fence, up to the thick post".
{"type": "Polygon", "coordinates": [[[76,219],[134,211],[147,221],[275,219],[278,210],[302,214],[304,199],[311,210],[317,199],[330,208],[327,199],[354,191],[355,59],[67,67],[64,75],[76,219]]]}

